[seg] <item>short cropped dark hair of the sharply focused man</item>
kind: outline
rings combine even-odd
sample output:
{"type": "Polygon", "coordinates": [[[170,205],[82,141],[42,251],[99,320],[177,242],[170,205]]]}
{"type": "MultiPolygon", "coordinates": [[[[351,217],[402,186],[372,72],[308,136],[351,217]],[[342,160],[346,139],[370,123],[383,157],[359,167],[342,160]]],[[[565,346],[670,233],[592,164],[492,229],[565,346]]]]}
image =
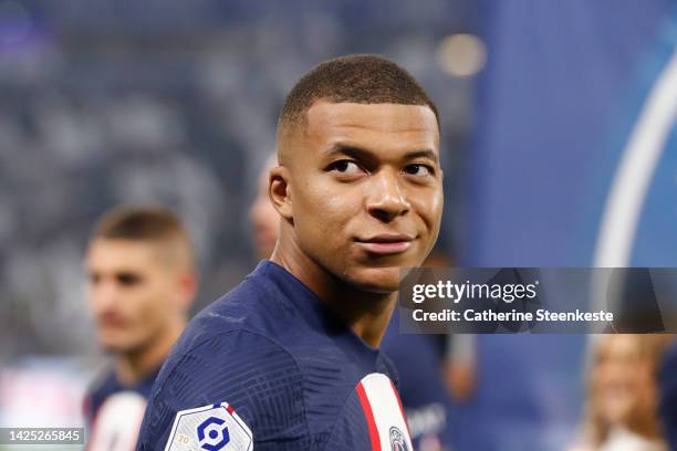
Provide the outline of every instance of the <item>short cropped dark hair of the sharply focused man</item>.
{"type": "Polygon", "coordinates": [[[393,61],[376,54],[354,54],[325,61],[299,80],[278,120],[278,134],[305,123],[305,113],[319,99],[335,103],[426,105],[437,119],[437,106],[418,82],[393,61]]]}

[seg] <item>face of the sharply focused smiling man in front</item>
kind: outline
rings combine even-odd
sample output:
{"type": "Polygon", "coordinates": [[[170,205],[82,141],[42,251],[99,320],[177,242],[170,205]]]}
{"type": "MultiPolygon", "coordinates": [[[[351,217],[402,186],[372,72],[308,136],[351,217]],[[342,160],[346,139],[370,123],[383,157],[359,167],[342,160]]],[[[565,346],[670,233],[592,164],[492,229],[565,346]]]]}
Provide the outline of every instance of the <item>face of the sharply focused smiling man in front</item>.
{"type": "Polygon", "coordinates": [[[393,292],[419,266],[442,212],[439,133],[427,106],[316,102],[291,149],[301,250],[362,290],[393,292]]]}

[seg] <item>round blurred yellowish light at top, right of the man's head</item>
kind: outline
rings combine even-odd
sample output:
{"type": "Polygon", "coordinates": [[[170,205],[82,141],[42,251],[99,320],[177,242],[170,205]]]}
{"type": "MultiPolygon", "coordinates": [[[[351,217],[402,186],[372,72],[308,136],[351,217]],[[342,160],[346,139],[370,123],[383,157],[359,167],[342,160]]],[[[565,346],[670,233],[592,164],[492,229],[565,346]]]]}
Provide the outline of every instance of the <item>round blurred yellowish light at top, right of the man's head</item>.
{"type": "Polygon", "coordinates": [[[458,77],[479,73],[487,61],[487,49],[473,34],[451,34],[437,46],[437,64],[447,74],[458,77]]]}

